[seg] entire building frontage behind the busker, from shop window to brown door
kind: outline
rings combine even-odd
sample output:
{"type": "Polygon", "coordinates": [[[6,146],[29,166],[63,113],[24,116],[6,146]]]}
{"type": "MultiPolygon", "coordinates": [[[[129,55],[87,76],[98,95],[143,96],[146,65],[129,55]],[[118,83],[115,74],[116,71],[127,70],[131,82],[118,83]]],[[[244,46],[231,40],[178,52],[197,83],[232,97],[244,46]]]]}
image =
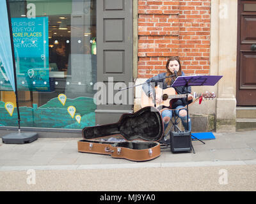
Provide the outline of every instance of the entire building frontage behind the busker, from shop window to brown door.
{"type": "MultiPolygon", "coordinates": [[[[186,75],[223,76],[192,87],[216,94],[189,107],[192,131],[236,131],[238,110],[255,113],[256,1],[10,0],[10,10],[22,129],[76,136],[117,122],[141,108],[132,86],[172,55],[186,75]]],[[[17,127],[4,76],[1,66],[2,132],[17,127]]]]}

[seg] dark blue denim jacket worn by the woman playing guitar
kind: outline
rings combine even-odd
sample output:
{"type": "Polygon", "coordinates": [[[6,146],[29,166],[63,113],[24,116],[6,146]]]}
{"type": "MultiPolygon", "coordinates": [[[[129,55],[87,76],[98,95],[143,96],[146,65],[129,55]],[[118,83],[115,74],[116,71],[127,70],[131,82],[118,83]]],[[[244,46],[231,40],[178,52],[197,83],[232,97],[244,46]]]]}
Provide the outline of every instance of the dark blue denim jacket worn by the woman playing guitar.
{"type": "MultiPolygon", "coordinates": [[[[182,76],[185,76],[184,72],[182,71],[182,76]]],[[[165,82],[165,79],[163,79],[164,77],[166,77],[166,72],[164,73],[160,73],[159,75],[156,75],[155,77],[152,78],[148,78],[148,80],[146,82],[148,82],[147,84],[143,84],[143,91],[145,92],[145,94],[149,97],[150,93],[153,92],[152,86],[150,85],[150,83],[155,83],[152,85],[159,85],[159,87],[161,87],[161,89],[167,89],[169,87],[171,87],[171,85],[173,84],[174,80],[172,79],[172,83],[170,85],[167,85],[165,82]]],[[[180,86],[180,87],[173,87],[175,89],[175,91],[177,92],[177,94],[186,94],[187,93],[187,87],[185,86],[180,86]]],[[[188,86],[188,93],[191,93],[191,87],[188,86]]],[[[191,103],[193,100],[188,101],[188,103],[191,103]]],[[[182,106],[186,106],[187,105],[187,100],[186,98],[179,98],[179,99],[175,99],[172,103],[172,107],[171,108],[176,108],[177,106],[182,105],[182,106]]]]}

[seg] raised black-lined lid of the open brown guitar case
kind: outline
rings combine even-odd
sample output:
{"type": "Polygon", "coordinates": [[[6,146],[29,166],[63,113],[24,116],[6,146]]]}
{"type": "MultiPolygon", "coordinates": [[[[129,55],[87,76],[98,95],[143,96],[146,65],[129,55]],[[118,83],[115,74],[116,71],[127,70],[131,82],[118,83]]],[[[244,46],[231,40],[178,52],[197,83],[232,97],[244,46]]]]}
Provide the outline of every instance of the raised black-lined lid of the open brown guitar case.
{"type": "Polygon", "coordinates": [[[157,142],[164,133],[161,113],[157,108],[146,106],[135,113],[124,113],[118,122],[83,128],[86,140],[106,136],[122,136],[127,141],[143,140],[157,142]]]}

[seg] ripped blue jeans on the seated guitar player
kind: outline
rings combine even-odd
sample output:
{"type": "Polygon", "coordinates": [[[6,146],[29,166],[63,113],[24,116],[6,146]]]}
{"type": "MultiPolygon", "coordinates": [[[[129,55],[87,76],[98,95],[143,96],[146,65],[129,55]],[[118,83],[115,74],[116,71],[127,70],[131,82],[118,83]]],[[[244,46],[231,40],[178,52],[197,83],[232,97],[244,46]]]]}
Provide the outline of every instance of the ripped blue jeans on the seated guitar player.
{"type": "Polygon", "coordinates": [[[191,121],[189,119],[189,116],[188,116],[188,122],[187,122],[187,115],[185,115],[184,117],[181,117],[179,115],[180,110],[186,110],[186,108],[185,109],[180,109],[180,108],[184,108],[184,106],[177,106],[175,110],[163,110],[162,119],[163,119],[163,122],[164,122],[164,130],[167,128],[170,120],[172,119],[173,112],[175,112],[175,114],[181,119],[181,122],[182,122],[182,125],[184,126],[184,129],[186,131],[191,131],[191,121]]]}

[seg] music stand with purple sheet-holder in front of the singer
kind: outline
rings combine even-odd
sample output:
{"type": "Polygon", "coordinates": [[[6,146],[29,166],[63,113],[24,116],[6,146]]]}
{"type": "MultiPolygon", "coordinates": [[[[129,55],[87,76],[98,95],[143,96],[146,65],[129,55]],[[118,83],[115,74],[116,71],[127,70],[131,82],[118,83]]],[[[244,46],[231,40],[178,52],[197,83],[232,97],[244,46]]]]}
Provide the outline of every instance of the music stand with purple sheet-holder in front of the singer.
{"type": "MultiPolygon", "coordinates": [[[[180,86],[184,86],[187,88],[187,93],[186,93],[186,98],[187,98],[187,124],[188,124],[188,86],[202,86],[202,85],[215,85],[220,78],[223,76],[179,76],[176,78],[176,80],[173,82],[173,84],[171,85],[171,87],[180,87],[180,86]]],[[[193,135],[191,135],[193,136],[193,135]]],[[[193,136],[194,138],[196,138],[195,136],[193,136]]],[[[196,138],[196,140],[199,140],[198,138],[196,138]]],[[[199,140],[200,142],[202,142],[202,140],[199,140]]],[[[202,142],[204,143],[204,142],[202,142]]],[[[204,143],[205,144],[205,143],[204,143]]],[[[191,143],[193,152],[195,154],[195,150],[193,148],[193,145],[191,143]]]]}

